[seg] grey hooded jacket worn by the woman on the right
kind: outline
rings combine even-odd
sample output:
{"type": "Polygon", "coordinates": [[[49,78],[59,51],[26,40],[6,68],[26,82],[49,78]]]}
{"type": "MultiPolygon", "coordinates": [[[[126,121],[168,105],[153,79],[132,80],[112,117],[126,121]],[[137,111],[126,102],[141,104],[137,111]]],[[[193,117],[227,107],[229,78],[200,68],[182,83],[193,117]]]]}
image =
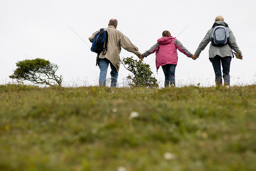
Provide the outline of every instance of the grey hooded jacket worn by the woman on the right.
{"type": "MultiPolygon", "coordinates": [[[[209,58],[214,58],[216,55],[219,55],[221,57],[232,56],[231,48],[239,55],[242,55],[241,50],[239,49],[238,45],[236,44],[236,38],[235,38],[232,30],[230,28],[228,28],[228,24],[225,23],[224,21],[216,21],[214,23],[213,27],[215,25],[224,25],[227,28],[227,30],[229,31],[229,44],[223,45],[220,47],[213,46],[212,44],[210,44],[209,58]]],[[[213,30],[213,28],[211,28],[210,30],[207,31],[205,38],[201,41],[200,45],[198,46],[197,50],[195,51],[196,57],[199,57],[201,51],[204,50],[205,47],[210,42],[212,30],[213,30]]]]}

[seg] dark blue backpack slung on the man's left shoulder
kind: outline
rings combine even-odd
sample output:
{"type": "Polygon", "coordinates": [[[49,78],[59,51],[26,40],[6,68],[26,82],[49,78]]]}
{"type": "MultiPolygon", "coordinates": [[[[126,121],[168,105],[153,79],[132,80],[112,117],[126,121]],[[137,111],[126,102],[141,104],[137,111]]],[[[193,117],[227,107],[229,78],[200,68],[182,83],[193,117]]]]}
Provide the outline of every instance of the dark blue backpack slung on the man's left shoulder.
{"type": "Polygon", "coordinates": [[[108,31],[101,29],[100,32],[95,35],[91,51],[98,55],[103,51],[103,55],[106,55],[108,51],[108,31]]]}

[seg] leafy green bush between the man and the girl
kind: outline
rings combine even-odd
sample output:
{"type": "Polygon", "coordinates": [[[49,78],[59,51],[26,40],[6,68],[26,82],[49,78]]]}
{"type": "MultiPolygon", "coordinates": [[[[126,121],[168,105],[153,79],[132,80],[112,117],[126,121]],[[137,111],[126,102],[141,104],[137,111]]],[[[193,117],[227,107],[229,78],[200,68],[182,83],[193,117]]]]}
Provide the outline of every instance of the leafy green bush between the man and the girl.
{"type": "Polygon", "coordinates": [[[123,63],[128,65],[127,70],[131,71],[133,75],[127,76],[131,82],[128,85],[132,87],[148,87],[158,88],[157,79],[151,76],[153,72],[150,70],[150,65],[143,62],[143,60],[134,60],[133,57],[123,59],[123,63]]]}

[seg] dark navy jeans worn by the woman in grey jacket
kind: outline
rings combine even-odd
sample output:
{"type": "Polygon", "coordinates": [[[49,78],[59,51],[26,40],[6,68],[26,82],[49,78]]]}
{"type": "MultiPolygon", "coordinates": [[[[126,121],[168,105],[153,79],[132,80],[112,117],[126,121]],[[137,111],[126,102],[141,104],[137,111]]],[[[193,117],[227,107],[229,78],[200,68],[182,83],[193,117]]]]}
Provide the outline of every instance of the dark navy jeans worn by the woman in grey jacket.
{"type": "Polygon", "coordinates": [[[210,58],[214,72],[215,72],[215,83],[216,85],[222,85],[221,78],[221,66],[223,71],[224,85],[230,85],[230,62],[231,56],[221,57],[216,55],[214,58],[210,58]]]}

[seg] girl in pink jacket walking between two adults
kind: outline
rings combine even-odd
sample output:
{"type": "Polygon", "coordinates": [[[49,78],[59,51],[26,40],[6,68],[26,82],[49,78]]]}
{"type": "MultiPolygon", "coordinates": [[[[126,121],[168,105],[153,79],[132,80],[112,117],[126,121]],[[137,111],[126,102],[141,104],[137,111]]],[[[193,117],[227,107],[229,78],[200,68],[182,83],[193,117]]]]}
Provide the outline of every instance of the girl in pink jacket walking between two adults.
{"type": "Polygon", "coordinates": [[[175,68],[178,62],[177,49],[192,57],[192,54],[180,43],[179,40],[171,36],[170,32],[165,30],[163,37],[157,40],[157,43],[140,56],[147,57],[156,52],[156,69],[162,66],[165,76],[164,87],[175,87],[175,68]]]}

